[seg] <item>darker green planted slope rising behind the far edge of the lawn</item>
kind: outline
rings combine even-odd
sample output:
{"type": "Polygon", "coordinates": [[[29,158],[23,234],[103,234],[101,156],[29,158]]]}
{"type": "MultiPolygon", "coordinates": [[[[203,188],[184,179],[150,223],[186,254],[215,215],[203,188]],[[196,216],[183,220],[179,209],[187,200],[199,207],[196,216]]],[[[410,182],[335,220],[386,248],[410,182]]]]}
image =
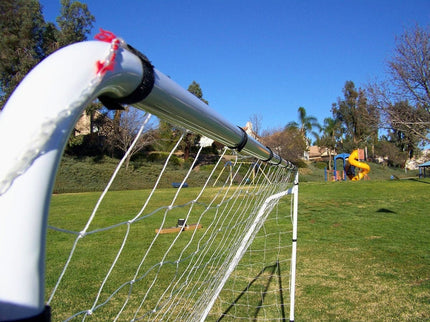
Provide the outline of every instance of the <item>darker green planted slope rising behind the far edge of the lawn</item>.
{"type": "MultiPolygon", "coordinates": [[[[109,181],[118,160],[109,157],[100,158],[73,158],[64,156],[58,170],[55,182],[54,193],[102,191],[109,181]]],[[[174,165],[168,168],[162,181],[161,187],[170,187],[172,182],[179,182],[189,167],[189,163],[177,158],[174,165]]],[[[390,168],[387,166],[369,163],[370,180],[390,180],[392,176],[396,178],[417,178],[418,171],[408,171],[400,168],[390,168]]],[[[324,164],[309,163],[306,168],[300,168],[301,182],[324,181],[324,164]]],[[[162,168],[159,161],[135,161],[129,169],[122,169],[112,190],[136,190],[152,187],[152,182],[157,178],[162,168]]],[[[196,167],[187,183],[190,186],[201,186],[212,170],[211,165],[196,167]]]]}

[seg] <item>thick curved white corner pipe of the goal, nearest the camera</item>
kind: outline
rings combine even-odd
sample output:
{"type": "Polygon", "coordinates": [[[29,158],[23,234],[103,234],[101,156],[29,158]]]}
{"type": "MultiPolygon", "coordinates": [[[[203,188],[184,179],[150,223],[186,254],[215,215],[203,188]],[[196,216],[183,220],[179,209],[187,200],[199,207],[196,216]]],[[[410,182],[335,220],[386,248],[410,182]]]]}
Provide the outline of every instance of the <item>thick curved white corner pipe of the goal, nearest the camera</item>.
{"type": "Polygon", "coordinates": [[[98,41],[59,50],[26,76],[0,113],[0,180],[22,165],[22,174],[0,196],[2,321],[32,317],[44,310],[48,207],[57,165],[74,124],[101,93],[126,96],[140,83],[140,60],[123,49],[118,51],[114,70],[99,84],[93,82],[96,61],[103,60],[109,50],[109,43],[98,41]],[[89,84],[95,85],[91,92],[89,84]],[[64,117],[56,121],[64,111],[64,117]],[[44,130],[52,130],[47,139],[44,130]],[[37,148],[30,167],[23,160],[29,145],[37,148]]]}

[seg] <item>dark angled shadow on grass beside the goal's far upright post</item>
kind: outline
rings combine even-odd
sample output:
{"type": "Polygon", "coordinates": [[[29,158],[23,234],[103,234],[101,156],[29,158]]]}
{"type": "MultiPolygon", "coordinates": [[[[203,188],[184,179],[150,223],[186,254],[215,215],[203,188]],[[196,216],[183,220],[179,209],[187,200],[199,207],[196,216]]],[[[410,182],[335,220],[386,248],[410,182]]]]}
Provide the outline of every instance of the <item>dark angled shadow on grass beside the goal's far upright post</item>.
{"type": "Polygon", "coordinates": [[[261,308],[263,307],[264,304],[264,299],[267,295],[267,291],[269,290],[269,286],[272,282],[274,283],[278,283],[278,287],[279,287],[279,301],[280,301],[280,306],[281,306],[281,314],[282,314],[282,321],[286,321],[285,318],[285,310],[284,310],[284,295],[283,295],[283,291],[282,291],[282,280],[281,280],[281,267],[279,265],[279,262],[277,261],[274,265],[270,265],[270,266],[266,266],[264,267],[260,273],[257,274],[257,276],[248,283],[248,285],[243,289],[243,291],[239,294],[239,296],[233,301],[233,303],[230,304],[230,306],[224,311],[224,313],[221,314],[220,318],[217,321],[221,321],[224,317],[227,316],[227,314],[230,312],[230,310],[232,310],[234,308],[234,306],[239,302],[239,300],[242,298],[242,296],[246,295],[247,292],[251,289],[252,285],[259,281],[260,279],[264,279],[265,277],[263,276],[263,274],[265,272],[269,272],[269,278],[267,279],[267,282],[265,284],[265,288],[264,291],[261,294],[261,298],[259,300],[259,303],[257,303],[257,305],[255,306],[255,312],[253,314],[253,320],[257,320],[258,318],[258,314],[261,310],[261,308]],[[277,276],[278,281],[273,281],[273,277],[277,276]]]}

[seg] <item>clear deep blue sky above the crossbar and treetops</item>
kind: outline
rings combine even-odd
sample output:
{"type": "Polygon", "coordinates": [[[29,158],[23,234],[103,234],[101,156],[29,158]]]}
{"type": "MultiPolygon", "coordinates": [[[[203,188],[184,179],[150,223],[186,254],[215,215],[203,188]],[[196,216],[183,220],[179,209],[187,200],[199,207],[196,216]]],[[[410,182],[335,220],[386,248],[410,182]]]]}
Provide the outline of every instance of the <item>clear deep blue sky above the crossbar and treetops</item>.
{"type": "MultiPolygon", "coordinates": [[[[59,0],[41,0],[45,20],[59,0]]],[[[430,0],[81,0],[103,28],[144,53],[237,125],[263,129],[332,116],[347,80],[385,77],[396,36],[430,25],[430,0]]]]}

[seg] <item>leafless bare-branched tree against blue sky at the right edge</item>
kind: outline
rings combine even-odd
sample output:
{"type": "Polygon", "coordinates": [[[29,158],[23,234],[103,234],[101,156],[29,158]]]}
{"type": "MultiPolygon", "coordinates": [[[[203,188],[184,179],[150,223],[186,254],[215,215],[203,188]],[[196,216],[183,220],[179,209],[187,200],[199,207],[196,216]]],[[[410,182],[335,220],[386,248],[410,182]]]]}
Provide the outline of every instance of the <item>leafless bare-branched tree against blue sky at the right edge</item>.
{"type": "Polygon", "coordinates": [[[383,116],[385,127],[430,142],[429,27],[415,26],[398,37],[387,67],[388,79],[368,86],[369,97],[383,116]],[[396,108],[406,100],[407,110],[396,108]]]}

